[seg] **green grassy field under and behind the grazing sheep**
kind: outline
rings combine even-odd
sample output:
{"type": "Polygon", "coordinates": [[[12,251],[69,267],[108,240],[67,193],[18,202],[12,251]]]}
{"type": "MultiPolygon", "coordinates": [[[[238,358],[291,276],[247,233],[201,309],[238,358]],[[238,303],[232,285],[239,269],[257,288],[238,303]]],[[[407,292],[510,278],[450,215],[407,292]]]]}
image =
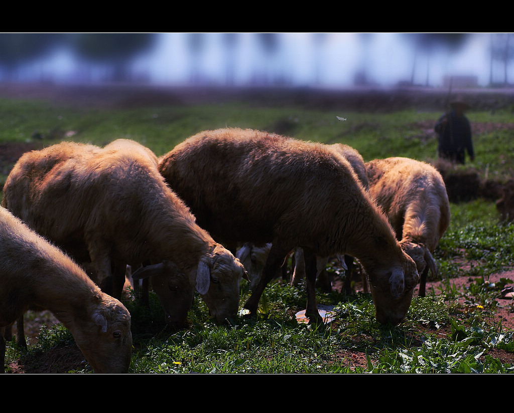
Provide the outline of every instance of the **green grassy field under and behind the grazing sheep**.
{"type": "MultiPolygon", "coordinates": [[[[220,105],[158,106],[94,109],[49,105],[43,101],[0,100],[0,144],[35,143],[48,146],[62,140],[103,146],[125,137],[157,155],[166,153],[188,136],[205,129],[255,128],[298,139],[341,142],[356,148],[365,161],[407,156],[436,159],[433,124],[438,112],[415,109],[399,112],[357,113],[305,110],[295,107],[255,107],[241,102],[220,105]],[[345,120],[338,120],[337,116],[345,120]]],[[[504,181],[514,176],[514,140],[510,110],[468,113],[474,128],[474,168],[485,178],[504,181]]],[[[0,185],[12,163],[0,164],[0,185]]],[[[238,319],[221,327],[208,318],[196,297],[187,329],[168,331],[155,296],[151,308],[131,300],[125,305],[133,320],[134,353],[131,373],[390,373],[390,372],[512,372],[514,331],[491,323],[507,281],[491,284],[489,276],[514,268],[514,231],[502,224],[492,201],[476,199],[452,204],[452,221],[435,251],[441,291],[415,298],[405,323],[380,326],[370,294],[342,296],[318,292],[318,302],[334,305],[334,320],[323,330],[296,321],[305,308],[304,286],[279,281],[269,285],[256,319],[238,319]],[[464,262],[479,265],[463,266],[464,262]],[[473,277],[471,288],[456,289],[450,280],[473,277]],[[504,356],[499,357],[502,352],[504,356]],[[507,355],[507,357],[505,357],[507,355]]],[[[336,265],[329,271],[340,274],[336,265]]],[[[241,285],[241,306],[250,295],[241,285]]],[[[512,300],[503,301],[512,310],[512,300]]],[[[37,365],[72,337],[62,326],[44,328],[38,343],[27,352],[8,349],[8,362],[37,365]]],[[[70,367],[70,372],[90,372],[70,367]]]]}

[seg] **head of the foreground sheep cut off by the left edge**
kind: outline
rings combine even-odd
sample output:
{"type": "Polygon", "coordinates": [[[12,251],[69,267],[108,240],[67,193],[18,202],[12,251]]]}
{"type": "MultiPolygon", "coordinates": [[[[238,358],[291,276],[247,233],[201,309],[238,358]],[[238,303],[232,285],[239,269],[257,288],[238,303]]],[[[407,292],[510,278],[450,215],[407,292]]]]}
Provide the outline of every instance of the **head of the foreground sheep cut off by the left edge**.
{"type": "Polygon", "coordinates": [[[96,373],[127,373],[132,357],[131,316],[118,300],[100,292],[99,302],[67,327],[96,373]]]}

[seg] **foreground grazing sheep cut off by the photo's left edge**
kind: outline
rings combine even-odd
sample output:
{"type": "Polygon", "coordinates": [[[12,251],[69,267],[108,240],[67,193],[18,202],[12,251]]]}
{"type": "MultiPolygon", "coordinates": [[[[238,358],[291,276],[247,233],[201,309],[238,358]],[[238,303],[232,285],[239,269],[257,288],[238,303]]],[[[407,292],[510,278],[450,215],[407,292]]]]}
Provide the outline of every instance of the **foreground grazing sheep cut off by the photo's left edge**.
{"type": "Polygon", "coordinates": [[[60,249],[0,207],[0,372],[4,329],[32,306],[51,311],[70,330],[96,373],[127,373],[131,316],[60,249]]]}

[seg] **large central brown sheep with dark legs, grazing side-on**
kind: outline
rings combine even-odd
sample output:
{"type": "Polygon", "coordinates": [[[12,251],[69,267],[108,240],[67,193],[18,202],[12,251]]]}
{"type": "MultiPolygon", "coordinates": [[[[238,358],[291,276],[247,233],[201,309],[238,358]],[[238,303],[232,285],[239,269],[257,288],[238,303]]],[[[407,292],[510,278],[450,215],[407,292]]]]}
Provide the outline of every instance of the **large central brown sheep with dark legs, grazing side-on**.
{"type": "Polygon", "coordinates": [[[356,257],[368,274],[377,320],[396,325],[405,318],[419,278],[416,266],[348,161],[326,145],[251,129],[204,131],[163,155],[159,171],[215,239],[272,243],[242,312],[256,313],[286,255],[302,247],[310,323],[323,323],[313,279],[316,254],[356,257]]]}

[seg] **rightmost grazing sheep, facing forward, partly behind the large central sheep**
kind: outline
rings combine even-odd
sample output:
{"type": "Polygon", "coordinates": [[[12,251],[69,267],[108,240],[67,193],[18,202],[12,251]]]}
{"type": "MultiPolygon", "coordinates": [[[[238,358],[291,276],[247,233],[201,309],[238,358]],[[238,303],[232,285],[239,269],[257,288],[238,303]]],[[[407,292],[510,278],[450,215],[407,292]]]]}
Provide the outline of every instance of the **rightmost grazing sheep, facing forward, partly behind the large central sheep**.
{"type": "Polygon", "coordinates": [[[431,165],[408,158],[376,159],[366,163],[370,195],[383,208],[402,249],[420,274],[419,293],[425,297],[427,274],[436,276],[432,254],[450,223],[445,183],[431,165]]]}

